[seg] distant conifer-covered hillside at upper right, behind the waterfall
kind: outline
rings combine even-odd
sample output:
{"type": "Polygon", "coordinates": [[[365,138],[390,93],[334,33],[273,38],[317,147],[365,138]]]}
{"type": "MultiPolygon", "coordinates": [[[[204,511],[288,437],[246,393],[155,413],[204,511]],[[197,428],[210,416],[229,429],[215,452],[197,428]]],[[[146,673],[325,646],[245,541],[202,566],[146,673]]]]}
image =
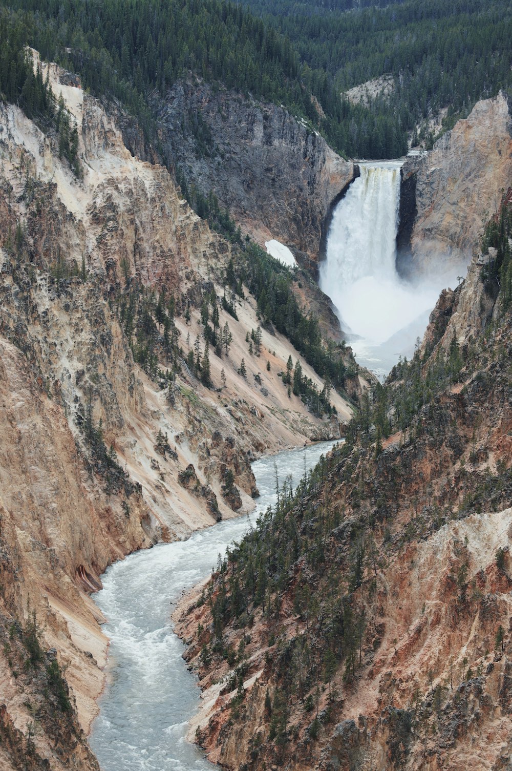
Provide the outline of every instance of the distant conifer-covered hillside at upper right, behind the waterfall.
{"type": "Polygon", "coordinates": [[[413,131],[447,108],[444,124],[450,128],[478,99],[512,83],[512,10],[506,0],[406,0],[382,8],[375,6],[383,3],[349,0],[247,3],[295,44],[305,82],[326,72],[339,94],[392,74],[395,91],[389,99],[375,99],[369,110],[355,113],[346,135],[345,125],[332,126],[336,143],[360,157],[381,149],[382,140],[372,137],[377,118],[397,132],[413,131]],[[343,12],[346,8],[355,10],[343,12]]]}

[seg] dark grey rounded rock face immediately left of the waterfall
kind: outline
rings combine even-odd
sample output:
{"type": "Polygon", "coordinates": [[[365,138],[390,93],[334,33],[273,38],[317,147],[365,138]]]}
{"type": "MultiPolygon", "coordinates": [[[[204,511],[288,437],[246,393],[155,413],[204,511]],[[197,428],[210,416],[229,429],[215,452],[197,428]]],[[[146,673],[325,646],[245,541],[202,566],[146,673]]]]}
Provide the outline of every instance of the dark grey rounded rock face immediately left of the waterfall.
{"type": "Polygon", "coordinates": [[[322,136],[285,109],[204,83],[177,82],[158,117],[168,155],[245,233],[317,258],[329,206],[354,177],[322,136]]]}

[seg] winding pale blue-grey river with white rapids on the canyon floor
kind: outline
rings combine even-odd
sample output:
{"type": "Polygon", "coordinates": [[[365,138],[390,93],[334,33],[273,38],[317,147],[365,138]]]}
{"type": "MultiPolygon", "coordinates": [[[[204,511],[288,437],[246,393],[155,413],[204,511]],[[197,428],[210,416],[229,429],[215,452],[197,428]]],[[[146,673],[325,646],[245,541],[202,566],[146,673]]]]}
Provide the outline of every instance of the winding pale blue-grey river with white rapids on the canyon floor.
{"type": "Polygon", "coordinates": [[[305,468],[334,446],[322,442],[267,456],[252,464],[260,497],[249,515],[199,530],[188,540],[159,544],[111,565],[94,600],[108,619],[107,685],[99,701],[90,746],[103,771],[214,771],[217,766],[187,742],[197,712],[197,678],[187,670],[184,645],[173,633],[172,605],[206,578],[249,520],[276,503],[275,466],[296,487],[305,468]]]}

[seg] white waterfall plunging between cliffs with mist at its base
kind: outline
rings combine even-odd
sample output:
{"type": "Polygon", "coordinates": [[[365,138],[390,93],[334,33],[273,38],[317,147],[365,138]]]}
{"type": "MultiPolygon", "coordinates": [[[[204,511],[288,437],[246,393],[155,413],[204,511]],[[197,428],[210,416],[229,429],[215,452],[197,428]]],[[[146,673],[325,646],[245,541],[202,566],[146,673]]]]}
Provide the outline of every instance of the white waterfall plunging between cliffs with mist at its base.
{"type": "Polygon", "coordinates": [[[320,288],[331,298],[359,363],[383,376],[413,353],[440,290],[453,274],[403,281],[396,271],[402,161],[360,163],[335,207],[320,288]]]}

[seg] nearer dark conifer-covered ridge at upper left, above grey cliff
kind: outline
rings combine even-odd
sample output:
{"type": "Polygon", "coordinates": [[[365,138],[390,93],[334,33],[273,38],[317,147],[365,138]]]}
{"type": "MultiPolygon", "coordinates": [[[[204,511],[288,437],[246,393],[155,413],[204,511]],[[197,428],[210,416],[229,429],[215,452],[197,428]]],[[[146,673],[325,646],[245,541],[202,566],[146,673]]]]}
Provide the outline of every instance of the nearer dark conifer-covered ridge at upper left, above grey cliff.
{"type": "Polygon", "coordinates": [[[16,12],[11,23],[20,39],[44,59],[78,72],[96,95],[120,99],[150,139],[154,123],[147,96],[164,96],[189,72],[318,120],[293,46],[240,5],[221,0],[2,5],[16,12]]]}

